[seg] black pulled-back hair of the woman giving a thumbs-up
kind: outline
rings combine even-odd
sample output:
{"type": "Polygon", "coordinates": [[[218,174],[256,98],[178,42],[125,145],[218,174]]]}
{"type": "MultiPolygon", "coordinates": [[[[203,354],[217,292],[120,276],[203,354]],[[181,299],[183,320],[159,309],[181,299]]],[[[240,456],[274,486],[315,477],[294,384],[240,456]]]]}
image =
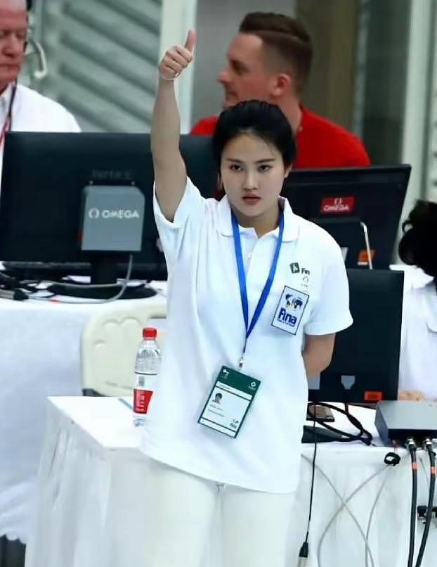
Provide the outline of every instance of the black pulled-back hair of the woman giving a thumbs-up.
{"type": "Polygon", "coordinates": [[[240,134],[254,134],[273,144],[282,155],[284,167],[296,158],[292,127],[279,106],[264,101],[242,101],[223,110],[218,116],[212,151],[218,172],[226,144],[240,134]]]}

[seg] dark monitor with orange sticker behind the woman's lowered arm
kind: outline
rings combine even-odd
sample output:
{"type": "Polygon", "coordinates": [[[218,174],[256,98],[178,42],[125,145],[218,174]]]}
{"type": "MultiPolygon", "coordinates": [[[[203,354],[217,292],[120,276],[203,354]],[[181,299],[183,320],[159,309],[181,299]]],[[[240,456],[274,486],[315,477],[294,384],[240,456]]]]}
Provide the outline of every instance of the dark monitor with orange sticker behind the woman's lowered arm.
{"type": "Polygon", "coordinates": [[[396,400],[403,272],[348,269],[353,325],[337,333],[320,378],[308,381],[312,402],[396,400]]]}

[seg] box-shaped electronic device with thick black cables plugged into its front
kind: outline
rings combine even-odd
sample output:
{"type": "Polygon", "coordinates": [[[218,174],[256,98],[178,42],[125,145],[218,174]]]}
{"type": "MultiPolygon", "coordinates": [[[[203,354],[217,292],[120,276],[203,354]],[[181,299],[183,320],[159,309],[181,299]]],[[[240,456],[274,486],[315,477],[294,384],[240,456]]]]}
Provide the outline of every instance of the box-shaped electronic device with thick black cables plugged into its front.
{"type": "Polygon", "coordinates": [[[408,438],[421,445],[426,438],[437,439],[437,403],[422,400],[384,401],[377,404],[374,424],[386,445],[405,445],[408,438]]]}

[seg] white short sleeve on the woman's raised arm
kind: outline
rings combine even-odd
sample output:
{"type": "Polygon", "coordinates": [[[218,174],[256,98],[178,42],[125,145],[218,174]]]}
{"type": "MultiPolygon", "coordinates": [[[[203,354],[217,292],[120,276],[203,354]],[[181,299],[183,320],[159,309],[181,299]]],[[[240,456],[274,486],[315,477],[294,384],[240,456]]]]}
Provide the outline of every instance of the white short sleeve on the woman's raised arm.
{"type": "Polygon", "coordinates": [[[191,179],[187,177],[181,203],[176,209],[173,221],[169,221],[162,214],[154,186],[153,212],[169,271],[183,248],[190,247],[198,238],[205,208],[206,200],[200,195],[200,191],[191,179]]]}

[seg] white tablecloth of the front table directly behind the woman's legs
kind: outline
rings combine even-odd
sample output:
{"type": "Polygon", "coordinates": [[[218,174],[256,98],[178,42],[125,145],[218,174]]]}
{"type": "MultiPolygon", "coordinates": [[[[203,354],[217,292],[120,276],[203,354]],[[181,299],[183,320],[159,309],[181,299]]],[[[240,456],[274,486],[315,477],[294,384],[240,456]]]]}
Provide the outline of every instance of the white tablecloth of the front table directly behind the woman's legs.
{"type": "MultiPolygon", "coordinates": [[[[143,534],[153,511],[148,509],[144,476],[147,459],[138,450],[138,432],[131,426],[131,411],[118,398],[52,398],[48,402],[48,427],[39,473],[39,499],[35,528],[27,545],[26,567],[147,567],[143,534]]],[[[355,410],[354,410],[355,412],[355,410]]],[[[374,432],[374,413],[356,409],[356,415],[374,432]]],[[[341,425],[342,420],[337,420],[341,425]]],[[[376,434],[376,433],[375,433],[376,434]]],[[[405,567],[410,513],[410,464],[405,450],[396,467],[387,468],[386,447],[330,443],[318,446],[313,522],[308,567],[364,567],[365,544],[356,524],[341,511],[347,499],[364,532],[377,495],[370,525],[370,550],[374,567],[405,567]],[[325,475],[325,476],[323,476],[325,475]],[[339,493],[335,494],[329,479],[339,493]]],[[[301,482],[289,531],[289,566],[306,531],[310,459],[313,446],[304,446],[301,482]]],[[[418,454],[427,466],[423,452],[418,454]]],[[[426,473],[419,466],[419,500],[426,504],[426,473]]],[[[220,519],[217,517],[216,522],[220,519]]],[[[216,526],[217,526],[216,523],[216,526]]],[[[422,528],[418,525],[417,537],[422,528]]],[[[220,566],[219,549],[211,537],[204,567],[220,566]]],[[[437,526],[431,526],[424,567],[436,564],[437,526]]],[[[369,560],[368,565],[372,565],[369,560]]],[[[175,566],[176,567],[176,566],[175,566]]],[[[267,567],[267,566],[266,566],[267,567]]]]}

